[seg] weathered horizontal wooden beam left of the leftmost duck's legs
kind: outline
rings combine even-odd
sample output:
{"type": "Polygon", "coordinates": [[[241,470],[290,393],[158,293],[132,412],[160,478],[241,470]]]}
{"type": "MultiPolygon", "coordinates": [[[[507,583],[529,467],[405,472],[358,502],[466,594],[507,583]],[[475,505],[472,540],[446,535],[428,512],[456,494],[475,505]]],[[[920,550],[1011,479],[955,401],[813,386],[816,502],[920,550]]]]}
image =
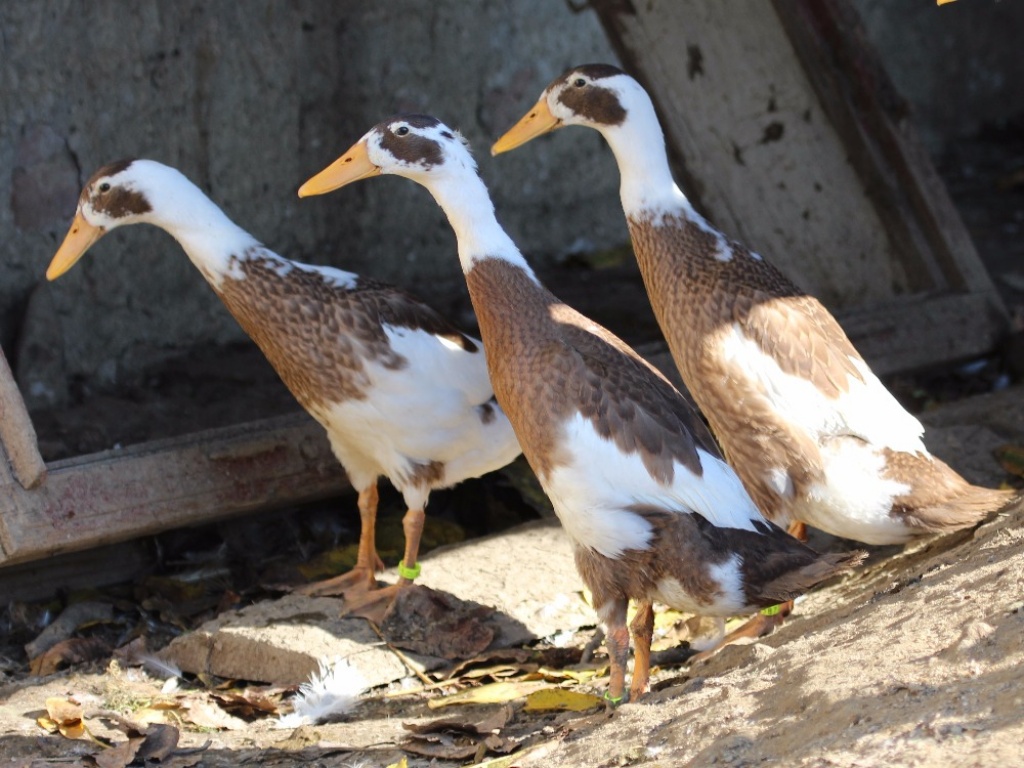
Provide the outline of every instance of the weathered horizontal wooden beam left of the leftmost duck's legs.
{"type": "Polygon", "coordinates": [[[54,462],[0,487],[0,564],[324,499],[347,488],[305,413],[54,462]]]}

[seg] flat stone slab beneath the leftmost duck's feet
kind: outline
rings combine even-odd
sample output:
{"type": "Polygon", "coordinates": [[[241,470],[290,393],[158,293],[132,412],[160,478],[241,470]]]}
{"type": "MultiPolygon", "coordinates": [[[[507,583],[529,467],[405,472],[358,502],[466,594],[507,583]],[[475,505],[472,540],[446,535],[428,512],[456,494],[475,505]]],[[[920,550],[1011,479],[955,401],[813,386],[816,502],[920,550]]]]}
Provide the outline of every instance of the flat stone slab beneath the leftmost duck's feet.
{"type": "MultiPolygon", "coordinates": [[[[393,569],[384,573],[384,581],[396,579],[393,569]]],[[[434,550],[423,558],[417,584],[432,589],[416,590],[404,614],[395,617],[392,609],[382,628],[385,636],[395,645],[450,657],[513,647],[597,623],[582,599],[568,540],[557,523],[548,521],[434,550]],[[436,592],[449,594],[437,601],[423,597],[436,592]],[[424,600],[441,613],[462,608],[459,615],[441,621],[423,605],[416,607],[424,600]],[[444,630],[435,638],[440,644],[425,639],[425,622],[430,621],[444,630]]],[[[371,686],[409,676],[366,620],[340,617],[343,610],[340,599],[292,594],[221,614],[176,638],[161,655],[193,674],[282,685],[303,682],[319,659],[334,656],[347,658],[371,686]]],[[[425,670],[446,664],[424,653],[404,654],[425,670]]]]}

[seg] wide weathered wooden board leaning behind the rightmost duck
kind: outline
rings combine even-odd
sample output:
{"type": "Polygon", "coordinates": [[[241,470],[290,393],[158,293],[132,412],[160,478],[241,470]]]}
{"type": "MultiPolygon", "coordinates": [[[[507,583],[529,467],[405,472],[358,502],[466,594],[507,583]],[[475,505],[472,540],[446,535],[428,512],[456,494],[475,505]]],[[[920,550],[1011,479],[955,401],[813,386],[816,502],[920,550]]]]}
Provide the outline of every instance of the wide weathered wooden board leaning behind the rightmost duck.
{"type": "Polygon", "coordinates": [[[845,0],[591,6],[694,205],[820,298],[865,357],[905,371],[990,351],[1006,311],[859,28],[846,34],[845,0]]]}

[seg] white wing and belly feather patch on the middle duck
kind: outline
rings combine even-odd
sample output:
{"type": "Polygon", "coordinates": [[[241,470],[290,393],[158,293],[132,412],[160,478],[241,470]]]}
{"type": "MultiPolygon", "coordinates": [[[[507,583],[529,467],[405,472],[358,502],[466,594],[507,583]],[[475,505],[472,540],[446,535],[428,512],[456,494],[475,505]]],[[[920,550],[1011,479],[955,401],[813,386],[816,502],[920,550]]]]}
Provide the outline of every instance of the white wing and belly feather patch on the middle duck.
{"type": "Polygon", "coordinates": [[[571,460],[541,478],[544,488],[569,537],[606,557],[649,545],[649,523],[628,511],[638,505],[695,512],[726,528],[755,530],[754,522],[764,519],[735,472],[699,449],[702,475],[676,463],[672,483],[663,485],[639,454],[624,454],[577,414],[565,424],[558,452],[571,460]]]}

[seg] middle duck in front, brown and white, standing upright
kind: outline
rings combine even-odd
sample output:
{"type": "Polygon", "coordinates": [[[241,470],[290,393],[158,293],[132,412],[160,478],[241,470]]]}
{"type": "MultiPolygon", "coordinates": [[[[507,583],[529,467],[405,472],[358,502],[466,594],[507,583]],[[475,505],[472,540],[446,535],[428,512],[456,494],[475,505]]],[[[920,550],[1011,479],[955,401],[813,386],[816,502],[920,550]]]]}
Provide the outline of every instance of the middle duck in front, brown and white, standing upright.
{"type": "Polygon", "coordinates": [[[863,553],[822,555],[768,521],[669,380],[541,284],[499,223],[468,142],[438,119],[379,123],[299,195],[381,174],[426,187],[456,233],[495,396],[605,628],[606,698],[626,695],[631,633],[630,700],[648,690],[655,601],[731,615],[859,562],[863,553]]]}

